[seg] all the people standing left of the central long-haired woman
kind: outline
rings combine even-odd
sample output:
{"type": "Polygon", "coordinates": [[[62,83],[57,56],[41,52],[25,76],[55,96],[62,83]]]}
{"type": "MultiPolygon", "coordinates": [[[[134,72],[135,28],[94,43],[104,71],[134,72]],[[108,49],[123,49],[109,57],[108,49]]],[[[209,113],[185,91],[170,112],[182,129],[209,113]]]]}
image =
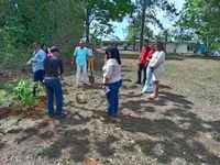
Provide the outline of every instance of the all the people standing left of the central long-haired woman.
{"type": "MultiPolygon", "coordinates": [[[[28,61],[28,65],[32,65],[33,81],[41,81],[47,92],[47,109],[50,117],[63,118],[63,90],[59,80],[61,75],[64,73],[63,62],[59,58],[59,48],[40,42],[33,42],[33,54],[28,61]],[[54,97],[56,99],[56,111],[54,111],[54,97]]],[[[79,87],[80,77],[82,77],[84,85],[86,84],[87,69],[94,72],[95,47],[92,44],[89,48],[84,47],[84,42],[79,42],[79,46],[74,51],[74,61],[76,62],[76,87],[79,87]],[[88,63],[88,68],[87,68],[88,63]]],[[[33,96],[36,95],[35,87],[33,88],[33,96]]]]}

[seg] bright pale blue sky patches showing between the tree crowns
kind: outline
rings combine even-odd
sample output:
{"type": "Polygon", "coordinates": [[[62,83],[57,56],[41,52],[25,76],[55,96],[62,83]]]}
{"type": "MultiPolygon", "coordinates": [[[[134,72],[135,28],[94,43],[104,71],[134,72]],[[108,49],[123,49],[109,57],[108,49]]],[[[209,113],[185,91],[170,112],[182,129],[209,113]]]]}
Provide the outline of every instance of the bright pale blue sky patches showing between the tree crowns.
{"type": "MultiPolygon", "coordinates": [[[[180,11],[185,0],[168,0],[169,2],[173,2],[177,9],[177,11],[180,11]]],[[[174,24],[175,21],[169,21],[166,18],[163,18],[163,12],[160,12],[157,14],[157,18],[161,20],[165,29],[170,29],[174,24]]],[[[176,18],[177,20],[177,18],[176,18]]],[[[129,25],[128,19],[124,19],[121,23],[113,22],[113,25],[116,26],[114,29],[114,35],[118,36],[119,38],[123,40],[125,37],[125,32],[124,29],[129,25]]],[[[154,31],[154,34],[157,34],[160,32],[160,29],[150,24],[151,30],[154,31]]]]}

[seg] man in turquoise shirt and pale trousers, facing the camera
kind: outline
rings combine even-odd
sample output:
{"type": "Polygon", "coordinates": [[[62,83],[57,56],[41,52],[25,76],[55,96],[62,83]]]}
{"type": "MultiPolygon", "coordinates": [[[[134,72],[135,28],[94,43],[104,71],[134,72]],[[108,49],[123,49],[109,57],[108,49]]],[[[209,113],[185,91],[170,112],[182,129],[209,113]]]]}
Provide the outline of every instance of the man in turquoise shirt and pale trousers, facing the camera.
{"type": "MultiPolygon", "coordinates": [[[[74,57],[77,66],[76,72],[76,87],[79,87],[80,77],[82,77],[82,84],[86,85],[86,70],[87,70],[87,57],[88,50],[84,47],[84,42],[79,41],[79,46],[74,51],[74,57]],[[82,75],[81,75],[82,70],[82,75]]],[[[72,62],[73,64],[74,62],[72,62]]]]}

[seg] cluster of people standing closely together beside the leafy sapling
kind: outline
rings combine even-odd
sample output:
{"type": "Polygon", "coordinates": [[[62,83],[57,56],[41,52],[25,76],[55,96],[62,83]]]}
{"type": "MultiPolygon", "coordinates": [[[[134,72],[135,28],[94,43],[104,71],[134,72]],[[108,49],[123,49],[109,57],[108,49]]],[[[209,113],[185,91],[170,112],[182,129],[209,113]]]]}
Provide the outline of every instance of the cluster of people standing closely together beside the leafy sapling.
{"type": "MultiPolygon", "coordinates": [[[[32,65],[33,81],[41,81],[44,84],[47,92],[47,109],[50,117],[63,118],[63,90],[59,76],[64,73],[63,62],[58,57],[59,48],[53,46],[48,48],[38,42],[33,42],[33,54],[26,63],[32,65]],[[56,112],[54,111],[54,96],[56,99],[56,112]]],[[[33,95],[35,96],[35,87],[33,95]]]]}

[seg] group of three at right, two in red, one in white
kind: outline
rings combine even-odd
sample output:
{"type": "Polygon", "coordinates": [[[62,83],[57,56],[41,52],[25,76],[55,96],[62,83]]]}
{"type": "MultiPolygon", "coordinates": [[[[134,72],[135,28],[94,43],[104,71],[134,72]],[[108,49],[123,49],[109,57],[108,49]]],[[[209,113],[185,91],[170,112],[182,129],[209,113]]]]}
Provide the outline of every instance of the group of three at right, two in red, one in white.
{"type": "Polygon", "coordinates": [[[151,98],[158,97],[160,79],[164,74],[165,52],[163,43],[156,42],[148,45],[148,40],[143,41],[143,47],[138,61],[138,80],[135,84],[143,84],[142,94],[153,92],[151,98]],[[143,81],[142,81],[143,72],[143,81]]]}

